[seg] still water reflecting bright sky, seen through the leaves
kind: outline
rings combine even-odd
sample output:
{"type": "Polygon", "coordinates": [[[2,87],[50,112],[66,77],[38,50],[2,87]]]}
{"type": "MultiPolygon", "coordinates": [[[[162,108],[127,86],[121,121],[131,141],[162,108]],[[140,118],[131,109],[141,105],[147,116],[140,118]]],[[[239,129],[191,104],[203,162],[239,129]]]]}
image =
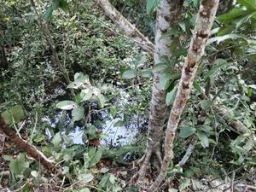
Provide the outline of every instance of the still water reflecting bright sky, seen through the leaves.
{"type": "MultiPolygon", "coordinates": [[[[124,112],[125,105],[128,104],[134,104],[131,100],[131,96],[124,90],[120,90],[119,102],[114,102],[113,105],[116,108],[119,108],[119,111],[124,112]]],[[[74,144],[84,144],[85,141],[83,141],[83,135],[86,128],[81,125],[72,125],[72,119],[67,111],[59,111],[56,113],[54,119],[46,117],[43,120],[53,129],[57,129],[59,127],[61,129],[61,133],[67,134],[74,144]],[[68,131],[69,129],[71,129],[71,131],[68,131]]],[[[136,143],[137,136],[140,133],[140,127],[147,124],[146,119],[138,118],[137,114],[131,114],[128,122],[125,122],[124,113],[119,113],[116,118],[113,118],[109,114],[108,109],[103,109],[96,113],[96,115],[94,115],[94,119],[91,121],[100,122],[96,124],[96,128],[102,130],[102,133],[108,136],[101,140],[101,145],[110,147],[136,143]]],[[[49,139],[52,137],[49,129],[46,129],[45,133],[49,139]]]]}

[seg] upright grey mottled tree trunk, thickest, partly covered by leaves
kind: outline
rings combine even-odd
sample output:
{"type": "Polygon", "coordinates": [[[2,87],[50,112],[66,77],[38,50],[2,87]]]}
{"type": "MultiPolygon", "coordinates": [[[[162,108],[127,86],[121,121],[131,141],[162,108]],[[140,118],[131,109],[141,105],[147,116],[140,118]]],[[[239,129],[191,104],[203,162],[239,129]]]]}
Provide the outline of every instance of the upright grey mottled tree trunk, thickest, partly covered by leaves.
{"type": "MultiPolygon", "coordinates": [[[[181,14],[183,0],[161,0],[157,9],[156,32],[154,38],[154,64],[161,62],[162,56],[171,57],[172,52],[170,44],[172,37],[161,38],[171,27],[177,26],[177,21],[181,14]]],[[[166,99],[165,92],[160,88],[161,73],[154,73],[154,83],[150,103],[150,116],[148,126],[148,143],[145,159],[139,171],[137,183],[145,182],[145,172],[152,154],[155,154],[158,160],[162,161],[160,153],[160,142],[162,140],[163,126],[166,119],[166,99]]]]}

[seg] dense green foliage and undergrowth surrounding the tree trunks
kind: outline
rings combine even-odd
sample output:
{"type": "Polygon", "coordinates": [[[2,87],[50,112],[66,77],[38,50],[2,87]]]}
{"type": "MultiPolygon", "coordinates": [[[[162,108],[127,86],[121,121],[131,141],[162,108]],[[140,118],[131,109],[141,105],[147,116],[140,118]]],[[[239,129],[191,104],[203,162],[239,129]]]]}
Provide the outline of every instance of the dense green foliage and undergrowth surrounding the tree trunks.
{"type": "MultiPolygon", "coordinates": [[[[154,39],[159,1],[110,2],[154,39]]],[[[0,131],[0,189],[138,191],[132,161],[143,156],[149,139],[153,73],[163,72],[170,109],[180,78],[172,69],[181,71],[185,61],[199,1],[184,1],[178,28],[162,37],[175,37],[172,60],[162,58],[154,67],[152,55],[125,38],[94,1],[32,3],[0,5],[0,110],[9,127],[54,160],[64,177],[52,177],[0,131]]],[[[166,182],[163,191],[206,189],[202,178],[230,183],[235,173],[238,183],[256,182],[255,53],[256,3],[239,0],[213,24],[175,140],[168,172],[175,182],[166,182]],[[179,166],[189,144],[194,150],[179,166]]]]}

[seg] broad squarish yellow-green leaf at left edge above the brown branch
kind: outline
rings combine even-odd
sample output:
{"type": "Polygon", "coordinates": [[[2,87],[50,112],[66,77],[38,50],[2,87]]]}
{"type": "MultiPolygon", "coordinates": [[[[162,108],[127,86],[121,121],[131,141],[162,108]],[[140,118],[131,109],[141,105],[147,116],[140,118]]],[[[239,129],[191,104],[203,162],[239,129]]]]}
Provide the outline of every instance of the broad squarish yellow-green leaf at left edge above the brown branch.
{"type": "Polygon", "coordinates": [[[6,124],[11,125],[23,119],[25,114],[21,105],[16,105],[1,113],[6,124]]]}

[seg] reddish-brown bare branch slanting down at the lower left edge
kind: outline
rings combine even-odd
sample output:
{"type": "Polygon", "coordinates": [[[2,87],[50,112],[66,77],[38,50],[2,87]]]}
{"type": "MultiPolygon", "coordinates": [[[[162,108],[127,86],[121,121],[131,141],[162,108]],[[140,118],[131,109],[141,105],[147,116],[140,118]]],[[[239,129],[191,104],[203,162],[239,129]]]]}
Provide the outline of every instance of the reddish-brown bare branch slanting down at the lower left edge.
{"type": "Polygon", "coordinates": [[[1,115],[0,130],[2,130],[3,133],[7,135],[18,148],[22,149],[26,152],[26,154],[37,160],[38,163],[42,164],[49,172],[56,173],[53,161],[48,160],[41,151],[39,151],[37,148],[30,145],[29,143],[26,143],[26,141],[24,141],[22,138],[18,137],[15,131],[11,130],[8,125],[5,124],[1,115]]]}

